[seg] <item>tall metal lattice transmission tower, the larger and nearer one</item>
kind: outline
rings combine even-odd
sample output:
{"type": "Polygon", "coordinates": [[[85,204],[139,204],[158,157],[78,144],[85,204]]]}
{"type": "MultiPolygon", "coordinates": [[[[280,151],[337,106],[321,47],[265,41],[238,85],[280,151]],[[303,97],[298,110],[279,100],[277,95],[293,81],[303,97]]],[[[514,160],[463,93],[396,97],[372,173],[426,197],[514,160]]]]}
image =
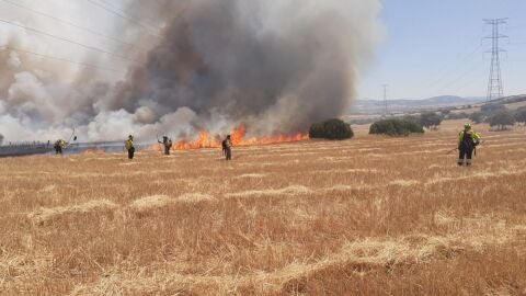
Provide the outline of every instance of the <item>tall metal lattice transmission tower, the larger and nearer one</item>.
{"type": "Polygon", "coordinates": [[[488,103],[491,100],[502,98],[504,95],[504,89],[502,88],[502,76],[501,76],[501,61],[499,54],[504,52],[499,47],[499,39],[507,38],[506,35],[502,35],[499,32],[499,25],[505,24],[507,19],[491,19],[483,20],[485,24],[490,24],[492,27],[491,36],[484,38],[491,39],[492,46],[491,50],[491,66],[490,66],[490,79],[488,81],[488,95],[485,102],[488,103]]]}

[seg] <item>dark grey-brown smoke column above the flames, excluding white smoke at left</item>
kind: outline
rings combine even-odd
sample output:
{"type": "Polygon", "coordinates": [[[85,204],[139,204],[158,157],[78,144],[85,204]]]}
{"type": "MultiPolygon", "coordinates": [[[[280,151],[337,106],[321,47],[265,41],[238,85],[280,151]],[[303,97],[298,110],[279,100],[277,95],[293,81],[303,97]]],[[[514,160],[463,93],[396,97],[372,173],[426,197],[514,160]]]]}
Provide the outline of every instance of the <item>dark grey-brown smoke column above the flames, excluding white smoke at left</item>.
{"type": "Polygon", "coordinates": [[[375,1],[194,1],[163,32],[117,104],[217,112],[264,134],[341,115],[375,43],[375,1]],[[364,2],[368,2],[365,3],[364,2]]]}

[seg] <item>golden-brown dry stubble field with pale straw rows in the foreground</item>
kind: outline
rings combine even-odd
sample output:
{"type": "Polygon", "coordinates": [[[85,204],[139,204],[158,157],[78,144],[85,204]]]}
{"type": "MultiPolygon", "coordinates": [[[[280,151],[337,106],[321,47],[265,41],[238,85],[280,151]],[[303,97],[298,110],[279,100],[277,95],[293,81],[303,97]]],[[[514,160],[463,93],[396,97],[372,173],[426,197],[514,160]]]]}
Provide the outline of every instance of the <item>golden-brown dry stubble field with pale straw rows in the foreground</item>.
{"type": "Polygon", "coordinates": [[[526,129],[0,159],[2,295],[526,295],[526,129]]]}

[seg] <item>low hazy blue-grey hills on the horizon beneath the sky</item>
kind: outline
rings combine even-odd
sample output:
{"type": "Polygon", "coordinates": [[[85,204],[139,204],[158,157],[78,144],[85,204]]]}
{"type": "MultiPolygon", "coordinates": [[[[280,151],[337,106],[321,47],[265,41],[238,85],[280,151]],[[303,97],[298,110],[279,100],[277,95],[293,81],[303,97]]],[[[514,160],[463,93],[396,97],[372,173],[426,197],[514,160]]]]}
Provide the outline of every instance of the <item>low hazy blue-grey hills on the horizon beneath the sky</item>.
{"type": "MultiPolygon", "coordinates": [[[[441,95],[423,100],[388,100],[388,110],[392,112],[418,111],[430,107],[460,106],[483,102],[485,99],[480,96],[462,98],[456,95],[441,95]]],[[[358,100],[352,109],[352,113],[381,113],[384,101],[380,100],[358,100]]]]}

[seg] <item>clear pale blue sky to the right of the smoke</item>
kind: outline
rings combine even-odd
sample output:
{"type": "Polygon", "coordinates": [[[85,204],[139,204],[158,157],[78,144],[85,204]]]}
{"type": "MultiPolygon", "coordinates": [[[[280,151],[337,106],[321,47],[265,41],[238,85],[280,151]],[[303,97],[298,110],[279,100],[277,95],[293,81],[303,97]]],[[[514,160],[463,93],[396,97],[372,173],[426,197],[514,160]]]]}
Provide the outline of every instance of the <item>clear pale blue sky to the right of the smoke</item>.
{"type": "Polygon", "coordinates": [[[505,95],[526,93],[526,1],[384,0],[384,41],[362,73],[358,99],[485,96],[491,26],[483,19],[508,18],[501,55],[505,95]]]}

